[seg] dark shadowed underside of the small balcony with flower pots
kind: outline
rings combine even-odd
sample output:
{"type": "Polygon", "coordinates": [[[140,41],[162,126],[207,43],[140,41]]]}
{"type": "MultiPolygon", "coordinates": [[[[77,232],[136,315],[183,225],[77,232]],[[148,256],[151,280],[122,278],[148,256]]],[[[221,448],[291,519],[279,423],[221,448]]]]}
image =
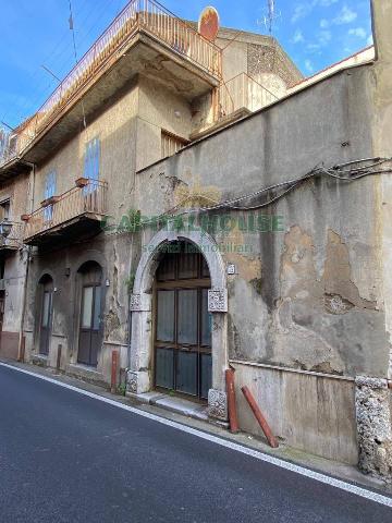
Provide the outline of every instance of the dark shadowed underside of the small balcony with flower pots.
{"type": "Polygon", "coordinates": [[[85,212],[50,229],[44,229],[33,236],[25,238],[26,245],[62,246],[79,242],[98,234],[102,230],[106,217],[94,212],[85,212]]]}

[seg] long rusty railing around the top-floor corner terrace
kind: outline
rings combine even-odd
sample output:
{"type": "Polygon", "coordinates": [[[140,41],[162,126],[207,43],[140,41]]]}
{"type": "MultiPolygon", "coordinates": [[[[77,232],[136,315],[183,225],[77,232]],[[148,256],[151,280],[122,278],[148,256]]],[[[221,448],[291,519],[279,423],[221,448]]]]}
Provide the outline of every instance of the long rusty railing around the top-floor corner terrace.
{"type": "Polygon", "coordinates": [[[30,121],[17,133],[14,150],[0,147],[0,166],[20,156],[136,32],[149,33],[205,72],[221,77],[221,49],[155,0],[131,0],[30,121]]]}

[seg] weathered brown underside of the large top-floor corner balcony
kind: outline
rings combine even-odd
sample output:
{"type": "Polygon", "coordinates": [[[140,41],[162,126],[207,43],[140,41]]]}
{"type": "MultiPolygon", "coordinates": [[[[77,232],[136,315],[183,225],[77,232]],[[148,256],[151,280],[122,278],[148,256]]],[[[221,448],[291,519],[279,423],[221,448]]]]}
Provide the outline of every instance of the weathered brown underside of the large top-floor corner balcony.
{"type": "Polygon", "coordinates": [[[189,101],[219,85],[216,76],[206,73],[170,46],[139,31],[70,99],[26,149],[24,159],[33,163],[42,161],[62,142],[79,131],[83,110],[88,122],[122,89],[132,85],[138,75],[154,78],[189,101]]]}

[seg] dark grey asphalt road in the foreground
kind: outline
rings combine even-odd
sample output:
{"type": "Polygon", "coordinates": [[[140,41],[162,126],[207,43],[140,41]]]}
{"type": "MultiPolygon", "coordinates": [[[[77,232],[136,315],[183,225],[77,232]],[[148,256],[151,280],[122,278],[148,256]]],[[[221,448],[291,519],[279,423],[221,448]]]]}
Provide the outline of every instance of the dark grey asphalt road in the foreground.
{"type": "Polygon", "coordinates": [[[0,522],[377,522],[392,509],[0,366],[0,522]]]}

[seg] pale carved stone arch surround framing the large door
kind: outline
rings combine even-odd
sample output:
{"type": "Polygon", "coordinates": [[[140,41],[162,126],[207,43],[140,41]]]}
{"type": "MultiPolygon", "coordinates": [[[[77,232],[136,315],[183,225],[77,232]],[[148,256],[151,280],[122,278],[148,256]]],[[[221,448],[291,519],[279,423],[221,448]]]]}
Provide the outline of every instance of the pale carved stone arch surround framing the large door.
{"type": "Polygon", "coordinates": [[[127,373],[127,390],[131,394],[147,392],[152,387],[152,284],[162,247],[175,241],[187,241],[196,245],[206,258],[211,290],[208,308],[212,320],[212,389],[208,394],[209,414],[226,418],[224,370],[228,368],[228,288],[225,265],[216,241],[205,232],[159,231],[145,246],[140,257],[131,296],[132,336],[131,367],[127,373]]]}

